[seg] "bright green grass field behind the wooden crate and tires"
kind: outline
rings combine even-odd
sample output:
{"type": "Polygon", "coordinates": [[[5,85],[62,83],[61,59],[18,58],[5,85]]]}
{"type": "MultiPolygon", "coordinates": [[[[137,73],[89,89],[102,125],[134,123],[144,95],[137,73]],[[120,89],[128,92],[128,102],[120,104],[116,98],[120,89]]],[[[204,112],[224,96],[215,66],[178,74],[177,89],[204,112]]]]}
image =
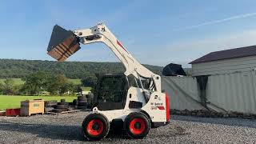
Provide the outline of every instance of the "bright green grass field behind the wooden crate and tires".
{"type": "Polygon", "coordinates": [[[13,95],[0,95],[0,110],[6,110],[7,108],[19,108],[21,101],[32,100],[42,98],[43,100],[58,100],[66,99],[66,102],[73,102],[77,97],[71,96],[13,96],[13,95]]]}

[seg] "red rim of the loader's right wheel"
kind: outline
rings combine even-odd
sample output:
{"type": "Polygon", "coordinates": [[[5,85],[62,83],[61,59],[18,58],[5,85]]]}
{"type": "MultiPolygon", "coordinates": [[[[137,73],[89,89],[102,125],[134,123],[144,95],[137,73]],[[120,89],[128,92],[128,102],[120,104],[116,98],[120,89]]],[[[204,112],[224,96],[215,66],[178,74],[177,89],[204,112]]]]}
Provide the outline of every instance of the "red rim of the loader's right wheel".
{"type": "Polygon", "coordinates": [[[130,132],[133,134],[142,134],[142,132],[145,130],[146,122],[142,118],[134,118],[130,122],[130,132]]]}

